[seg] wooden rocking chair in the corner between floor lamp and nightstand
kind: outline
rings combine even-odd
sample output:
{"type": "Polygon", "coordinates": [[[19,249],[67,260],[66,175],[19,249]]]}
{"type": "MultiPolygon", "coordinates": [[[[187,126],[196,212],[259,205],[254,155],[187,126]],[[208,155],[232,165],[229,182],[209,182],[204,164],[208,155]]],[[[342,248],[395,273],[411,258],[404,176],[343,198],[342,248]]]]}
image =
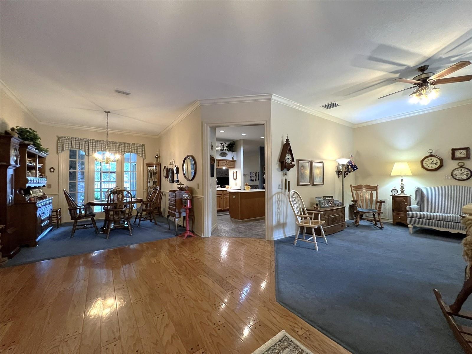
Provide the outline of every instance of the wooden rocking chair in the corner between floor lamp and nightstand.
{"type": "Polygon", "coordinates": [[[359,226],[359,220],[363,218],[372,221],[377,227],[379,222],[380,228],[383,228],[381,214],[382,204],[385,201],[378,200],[379,185],[351,185],[351,193],[354,203],[351,205],[355,217],[354,225],[359,226]],[[372,218],[364,217],[364,214],[372,214],[372,218]]]}

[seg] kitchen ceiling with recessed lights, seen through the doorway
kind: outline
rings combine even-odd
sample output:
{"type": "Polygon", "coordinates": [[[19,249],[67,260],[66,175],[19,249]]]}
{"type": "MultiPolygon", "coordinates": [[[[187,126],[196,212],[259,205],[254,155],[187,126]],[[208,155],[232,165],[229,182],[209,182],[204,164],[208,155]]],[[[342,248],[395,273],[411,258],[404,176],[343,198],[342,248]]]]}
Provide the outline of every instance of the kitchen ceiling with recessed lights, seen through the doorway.
{"type": "MultiPolygon", "coordinates": [[[[243,140],[244,152],[257,152],[259,146],[265,146],[264,136],[265,127],[262,125],[254,126],[220,126],[216,128],[217,144],[230,142],[233,140],[243,140]],[[220,130],[224,130],[223,133],[220,130]],[[241,134],[245,134],[244,136],[241,134]]],[[[217,146],[218,147],[218,146],[217,146]]]]}

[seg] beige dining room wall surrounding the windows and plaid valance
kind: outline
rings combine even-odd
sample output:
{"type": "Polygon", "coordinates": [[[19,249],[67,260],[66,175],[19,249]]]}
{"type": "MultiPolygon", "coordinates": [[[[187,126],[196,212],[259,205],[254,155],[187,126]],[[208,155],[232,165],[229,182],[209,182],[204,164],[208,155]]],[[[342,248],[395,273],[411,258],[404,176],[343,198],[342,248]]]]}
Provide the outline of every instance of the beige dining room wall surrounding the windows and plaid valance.
{"type": "MultiPolygon", "coordinates": [[[[58,206],[67,210],[67,205],[63,200],[62,193],[59,193],[59,179],[63,173],[67,171],[62,171],[61,166],[59,165],[59,154],[57,151],[57,137],[58,136],[75,136],[79,138],[90,138],[90,139],[100,139],[103,140],[105,137],[105,132],[96,132],[86,129],[76,129],[76,128],[65,128],[58,126],[49,126],[38,124],[33,116],[26,112],[21,106],[11,99],[3,90],[1,90],[1,131],[3,132],[6,129],[9,129],[11,126],[26,126],[34,128],[38,134],[41,136],[42,146],[49,149],[49,156],[46,159],[46,167],[54,167],[56,170],[54,173],[48,171],[48,185],[51,185],[51,188],[44,188],[44,193],[49,196],[53,196],[54,207],[58,206]]],[[[143,143],[145,144],[146,159],[144,162],[153,162],[155,161],[154,155],[158,151],[157,139],[152,137],[143,137],[137,135],[126,135],[126,134],[117,134],[109,133],[109,140],[111,141],[121,141],[126,143],[143,143]]],[[[67,153],[67,152],[63,152],[67,153]]],[[[142,172],[142,189],[145,188],[145,178],[146,175],[144,171],[142,172]]],[[[60,191],[62,192],[62,191],[60,191]]],[[[142,196],[143,191],[137,191],[138,196],[142,196]]],[[[62,213],[64,221],[68,220],[67,212],[62,213]]]]}

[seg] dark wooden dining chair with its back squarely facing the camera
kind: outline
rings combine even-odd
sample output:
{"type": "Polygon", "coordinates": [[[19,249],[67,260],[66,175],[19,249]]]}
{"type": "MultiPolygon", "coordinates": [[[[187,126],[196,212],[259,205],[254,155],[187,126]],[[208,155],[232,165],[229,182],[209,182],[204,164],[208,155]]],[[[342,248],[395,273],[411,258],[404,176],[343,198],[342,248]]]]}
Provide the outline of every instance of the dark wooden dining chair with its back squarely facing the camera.
{"type": "Polygon", "coordinates": [[[133,236],[133,233],[131,232],[133,207],[133,195],[126,189],[115,189],[110,192],[105,207],[107,239],[110,236],[112,224],[113,228],[128,228],[129,236],[133,236]]]}

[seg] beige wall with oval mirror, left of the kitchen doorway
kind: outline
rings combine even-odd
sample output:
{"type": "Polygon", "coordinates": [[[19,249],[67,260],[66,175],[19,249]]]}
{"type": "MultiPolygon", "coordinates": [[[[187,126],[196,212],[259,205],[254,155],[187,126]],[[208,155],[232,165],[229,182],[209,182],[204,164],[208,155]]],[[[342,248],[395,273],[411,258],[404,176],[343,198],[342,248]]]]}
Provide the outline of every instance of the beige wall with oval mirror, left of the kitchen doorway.
{"type": "MultiPolygon", "coordinates": [[[[192,188],[193,199],[192,206],[195,215],[194,231],[202,235],[203,229],[203,173],[202,173],[202,126],[200,119],[200,108],[178,122],[168,131],[161,134],[158,138],[160,151],[160,162],[163,166],[169,166],[171,159],[175,160],[179,167],[179,180],[184,185],[192,188]],[[185,156],[194,155],[197,164],[197,173],[193,181],[187,181],[182,173],[182,161],[185,156]]],[[[175,177],[174,177],[175,178],[175,177]]],[[[164,198],[162,199],[163,210],[167,209],[167,196],[170,189],[177,189],[176,183],[169,183],[161,180],[164,198]]]]}

